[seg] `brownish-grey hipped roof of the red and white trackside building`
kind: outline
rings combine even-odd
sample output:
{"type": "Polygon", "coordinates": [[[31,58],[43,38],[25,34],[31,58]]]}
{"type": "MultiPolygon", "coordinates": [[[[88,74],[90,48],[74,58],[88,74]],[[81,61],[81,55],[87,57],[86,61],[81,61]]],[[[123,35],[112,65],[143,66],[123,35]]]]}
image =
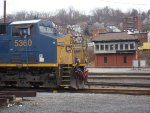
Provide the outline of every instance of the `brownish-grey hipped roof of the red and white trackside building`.
{"type": "Polygon", "coordinates": [[[127,32],[121,33],[104,33],[100,36],[95,37],[92,41],[126,41],[126,40],[138,40],[138,37],[135,35],[129,35],[127,32]]]}

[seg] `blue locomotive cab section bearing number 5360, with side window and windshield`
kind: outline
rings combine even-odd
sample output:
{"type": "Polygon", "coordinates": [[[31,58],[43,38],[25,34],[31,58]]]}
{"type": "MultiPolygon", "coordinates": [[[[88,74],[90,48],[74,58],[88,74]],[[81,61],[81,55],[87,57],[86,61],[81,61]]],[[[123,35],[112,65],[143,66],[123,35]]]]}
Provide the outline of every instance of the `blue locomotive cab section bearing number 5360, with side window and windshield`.
{"type": "MultiPolygon", "coordinates": [[[[41,20],[13,22],[12,53],[18,55],[18,62],[28,66],[56,64],[56,36],[51,23],[41,20]]],[[[12,55],[13,56],[13,55],[12,55]]],[[[16,56],[15,56],[16,58],[16,56]]],[[[13,61],[13,63],[15,63],[13,61]]]]}

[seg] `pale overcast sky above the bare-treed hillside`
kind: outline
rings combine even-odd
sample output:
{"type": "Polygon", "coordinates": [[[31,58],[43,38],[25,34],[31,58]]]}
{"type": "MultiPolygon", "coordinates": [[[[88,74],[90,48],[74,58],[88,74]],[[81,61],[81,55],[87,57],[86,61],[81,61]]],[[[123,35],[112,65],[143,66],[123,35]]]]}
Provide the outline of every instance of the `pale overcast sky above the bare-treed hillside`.
{"type": "MultiPolygon", "coordinates": [[[[3,1],[0,0],[0,16],[3,15],[3,1]]],[[[126,12],[130,9],[147,11],[150,9],[150,0],[6,0],[7,13],[12,14],[19,11],[54,12],[57,9],[76,10],[89,13],[92,9],[105,6],[121,9],[126,12]]]]}

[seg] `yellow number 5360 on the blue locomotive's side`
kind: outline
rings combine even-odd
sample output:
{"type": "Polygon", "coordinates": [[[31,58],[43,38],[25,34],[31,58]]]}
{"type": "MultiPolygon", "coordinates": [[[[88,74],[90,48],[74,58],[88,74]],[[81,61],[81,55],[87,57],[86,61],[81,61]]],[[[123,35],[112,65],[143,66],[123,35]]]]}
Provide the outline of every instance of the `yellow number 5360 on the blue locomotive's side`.
{"type": "Polygon", "coordinates": [[[15,46],[32,46],[32,40],[15,40],[15,46]]]}

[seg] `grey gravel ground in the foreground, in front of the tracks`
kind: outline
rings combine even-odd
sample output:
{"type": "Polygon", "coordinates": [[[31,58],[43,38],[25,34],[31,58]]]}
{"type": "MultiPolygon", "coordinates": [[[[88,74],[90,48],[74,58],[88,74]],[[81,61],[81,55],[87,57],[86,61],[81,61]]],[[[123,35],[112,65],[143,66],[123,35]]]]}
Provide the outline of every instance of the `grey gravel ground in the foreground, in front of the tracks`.
{"type": "Polygon", "coordinates": [[[0,113],[150,113],[150,97],[119,94],[38,93],[0,113]]]}

